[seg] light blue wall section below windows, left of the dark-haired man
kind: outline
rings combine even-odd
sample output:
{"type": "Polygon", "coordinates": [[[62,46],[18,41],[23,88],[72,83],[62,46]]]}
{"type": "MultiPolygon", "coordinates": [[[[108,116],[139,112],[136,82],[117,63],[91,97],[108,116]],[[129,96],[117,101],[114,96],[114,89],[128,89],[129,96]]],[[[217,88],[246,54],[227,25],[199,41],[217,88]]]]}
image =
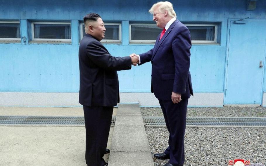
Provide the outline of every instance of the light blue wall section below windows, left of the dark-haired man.
{"type": "Polygon", "coordinates": [[[78,45],[5,44],[0,58],[0,91],[78,91],[78,45]]]}

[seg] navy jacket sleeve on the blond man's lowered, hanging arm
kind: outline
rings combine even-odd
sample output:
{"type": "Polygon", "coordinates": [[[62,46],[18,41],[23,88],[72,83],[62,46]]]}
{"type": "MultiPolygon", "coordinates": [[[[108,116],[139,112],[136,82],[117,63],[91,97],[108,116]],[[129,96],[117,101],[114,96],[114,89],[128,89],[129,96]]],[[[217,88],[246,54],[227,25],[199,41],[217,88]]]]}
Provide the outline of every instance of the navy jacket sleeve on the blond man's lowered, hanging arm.
{"type": "Polygon", "coordinates": [[[172,42],[175,59],[175,80],[173,92],[184,94],[190,66],[191,35],[187,27],[179,27],[172,42]]]}

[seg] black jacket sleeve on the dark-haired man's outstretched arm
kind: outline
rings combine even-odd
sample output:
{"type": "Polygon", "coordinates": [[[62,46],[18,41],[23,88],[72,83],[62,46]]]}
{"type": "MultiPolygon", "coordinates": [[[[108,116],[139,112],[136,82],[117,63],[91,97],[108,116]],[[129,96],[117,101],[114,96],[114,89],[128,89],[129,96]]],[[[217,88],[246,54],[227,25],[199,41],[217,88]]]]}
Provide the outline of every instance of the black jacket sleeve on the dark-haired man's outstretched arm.
{"type": "Polygon", "coordinates": [[[104,46],[98,42],[90,42],[87,45],[87,56],[97,66],[108,70],[129,70],[131,69],[130,56],[111,56],[104,46]]]}

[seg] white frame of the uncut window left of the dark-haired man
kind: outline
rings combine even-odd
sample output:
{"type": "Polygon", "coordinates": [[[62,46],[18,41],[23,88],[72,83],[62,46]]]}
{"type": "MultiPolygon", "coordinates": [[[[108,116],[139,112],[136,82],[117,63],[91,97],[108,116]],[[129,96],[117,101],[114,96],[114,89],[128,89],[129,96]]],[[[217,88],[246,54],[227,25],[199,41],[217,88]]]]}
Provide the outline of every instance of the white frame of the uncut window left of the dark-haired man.
{"type": "Polygon", "coordinates": [[[45,42],[72,42],[72,28],[71,28],[71,22],[46,22],[46,21],[33,21],[31,22],[31,32],[32,32],[32,41],[45,41],[45,42]],[[70,25],[70,39],[43,39],[43,38],[34,38],[34,24],[67,24],[70,25]]]}

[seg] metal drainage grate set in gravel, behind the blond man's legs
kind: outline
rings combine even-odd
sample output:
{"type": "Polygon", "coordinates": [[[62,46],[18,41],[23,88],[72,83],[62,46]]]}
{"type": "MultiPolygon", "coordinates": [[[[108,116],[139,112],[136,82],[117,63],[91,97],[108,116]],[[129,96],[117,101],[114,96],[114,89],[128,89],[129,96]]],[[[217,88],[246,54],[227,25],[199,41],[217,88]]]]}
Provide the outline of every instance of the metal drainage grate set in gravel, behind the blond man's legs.
{"type": "MultiPolygon", "coordinates": [[[[164,117],[143,117],[145,126],[165,126],[164,117]]],[[[187,117],[186,125],[196,126],[266,126],[260,117],[187,117]]]]}

